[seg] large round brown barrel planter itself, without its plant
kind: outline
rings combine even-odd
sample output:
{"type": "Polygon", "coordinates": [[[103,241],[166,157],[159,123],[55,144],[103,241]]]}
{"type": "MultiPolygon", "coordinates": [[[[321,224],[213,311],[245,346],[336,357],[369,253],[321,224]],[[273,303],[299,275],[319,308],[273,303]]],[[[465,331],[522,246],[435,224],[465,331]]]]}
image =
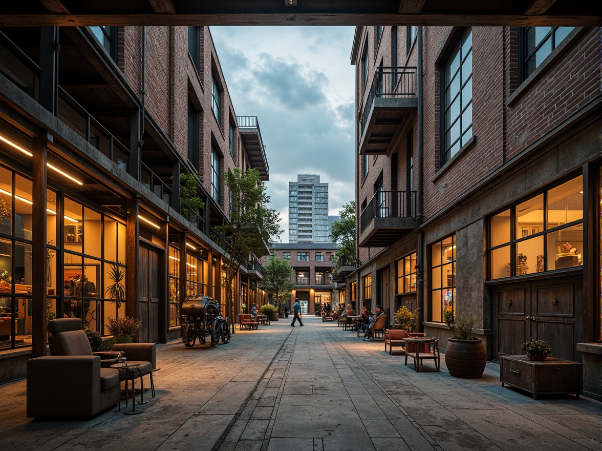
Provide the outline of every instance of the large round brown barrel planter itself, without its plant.
{"type": "Polygon", "coordinates": [[[483,340],[448,338],[445,365],[452,376],[476,379],[483,375],[487,355],[483,340]]]}

